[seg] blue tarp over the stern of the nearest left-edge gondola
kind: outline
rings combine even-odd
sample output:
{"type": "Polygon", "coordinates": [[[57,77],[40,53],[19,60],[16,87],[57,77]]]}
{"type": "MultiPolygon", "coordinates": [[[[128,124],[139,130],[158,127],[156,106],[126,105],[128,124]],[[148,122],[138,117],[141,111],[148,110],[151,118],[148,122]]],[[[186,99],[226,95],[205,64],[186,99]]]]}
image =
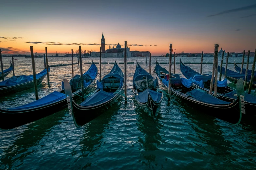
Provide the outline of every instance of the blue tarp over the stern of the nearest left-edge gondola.
{"type": "MultiPolygon", "coordinates": [[[[96,67],[96,65],[94,64],[94,62],[92,62],[90,68],[83,74],[83,80],[85,80],[86,84],[84,84],[84,88],[87,87],[85,85],[87,85],[88,83],[91,84],[93,82],[93,80],[95,79],[96,75],[98,72],[98,68],[96,67]]],[[[81,88],[81,76],[80,75],[76,75],[74,76],[70,81],[69,84],[71,86],[71,89],[75,90],[77,88],[81,88]],[[78,87],[77,87],[78,85],[78,87]]]]}

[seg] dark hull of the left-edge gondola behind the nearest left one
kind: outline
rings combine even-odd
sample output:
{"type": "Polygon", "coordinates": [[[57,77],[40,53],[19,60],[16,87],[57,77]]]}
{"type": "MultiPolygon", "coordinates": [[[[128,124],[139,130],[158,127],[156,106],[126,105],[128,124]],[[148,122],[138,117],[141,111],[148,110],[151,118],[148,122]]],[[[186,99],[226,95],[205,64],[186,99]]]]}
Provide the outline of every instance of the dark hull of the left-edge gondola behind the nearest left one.
{"type": "MultiPolygon", "coordinates": [[[[42,83],[45,76],[46,75],[44,75],[43,77],[36,80],[37,85],[42,83]]],[[[15,86],[0,88],[0,95],[4,96],[4,95],[8,95],[10,93],[21,92],[21,91],[28,90],[28,89],[31,89],[31,88],[34,88],[34,81],[33,80],[29,81],[29,82],[26,82],[26,83],[22,83],[22,84],[17,84],[15,86]]]]}

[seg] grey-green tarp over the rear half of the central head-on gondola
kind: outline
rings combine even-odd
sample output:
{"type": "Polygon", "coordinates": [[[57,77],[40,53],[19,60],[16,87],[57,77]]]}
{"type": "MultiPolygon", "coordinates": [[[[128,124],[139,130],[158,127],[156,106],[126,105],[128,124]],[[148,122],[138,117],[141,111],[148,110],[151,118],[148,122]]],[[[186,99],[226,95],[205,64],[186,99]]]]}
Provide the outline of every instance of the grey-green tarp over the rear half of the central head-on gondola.
{"type": "Polygon", "coordinates": [[[153,81],[154,78],[137,63],[136,70],[133,76],[133,86],[139,89],[140,91],[143,91],[147,88],[153,88],[153,81]]]}

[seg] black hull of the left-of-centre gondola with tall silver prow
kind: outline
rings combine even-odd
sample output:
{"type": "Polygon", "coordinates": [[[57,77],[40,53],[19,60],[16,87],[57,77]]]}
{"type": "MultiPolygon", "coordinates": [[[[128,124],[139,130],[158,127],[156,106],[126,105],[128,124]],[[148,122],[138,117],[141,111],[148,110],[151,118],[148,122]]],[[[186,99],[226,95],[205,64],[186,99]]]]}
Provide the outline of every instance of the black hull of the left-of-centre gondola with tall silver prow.
{"type": "MultiPolygon", "coordinates": [[[[124,87],[124,85],[123,85],[123,87],[124,87]]],[[[121,88],[120,91],[123,90],[123,87],[121,88]]],[[[106,109],[108,109],[110,106],[117,103],[119,97],[120,97],[120,94],[116,94],[113,98],[111,98],[110,100],[108,100],[104,103],[101,103],[101,104],[95,105],[95,106],[89,106],[89,107],[84,107],[84,106],[78,105],[75,102],[74,97],[72,97],[72,102],[71,102],[72,103],[72,116],[73,116],[75,125],[77,127],[81,127],[81,126],[85,125],[86,123],[94,120],[95,118],[97,118],[98,116],[103,114],[104,111],[106,109]]]]}

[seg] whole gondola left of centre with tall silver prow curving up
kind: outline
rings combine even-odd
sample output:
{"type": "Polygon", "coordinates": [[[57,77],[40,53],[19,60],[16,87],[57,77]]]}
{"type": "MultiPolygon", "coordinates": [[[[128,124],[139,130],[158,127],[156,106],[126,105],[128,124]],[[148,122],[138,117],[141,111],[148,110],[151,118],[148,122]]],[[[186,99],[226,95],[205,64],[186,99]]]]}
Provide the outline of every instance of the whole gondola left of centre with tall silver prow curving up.
{"type": "Polygon", "coordinates": [[[117,102],[124,87],[124,75],[116,61],[110,73],[104,76],[101,82],[97,80],[97,88],[79,105],[72,96],[70,84],[65,79],[63,81],[69,113],[72,113],[77,127],[81,127],[95,119],[108,106],[117,102]]]}

